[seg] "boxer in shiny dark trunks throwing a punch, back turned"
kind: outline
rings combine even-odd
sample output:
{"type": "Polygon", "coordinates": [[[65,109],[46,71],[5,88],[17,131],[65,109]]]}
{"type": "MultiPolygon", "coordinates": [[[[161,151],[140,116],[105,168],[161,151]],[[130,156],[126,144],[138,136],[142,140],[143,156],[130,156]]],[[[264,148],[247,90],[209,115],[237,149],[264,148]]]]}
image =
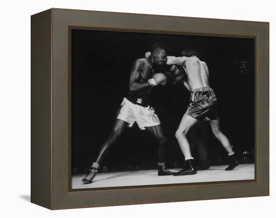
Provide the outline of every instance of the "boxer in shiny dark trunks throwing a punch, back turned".
{"type": "Polygon", "coordinates": [[[186,135],[198,120],[210,121],[214,136],[219,140],[229,156],[229,166],[225,170],[233,170],[238,165],[238,162],[232,145],[219,128],[219,118],[216,109],[217,98],[213,89],[209,86],[207,64],[197,57],[197,53],[194,50],[184,50],[182,55],[182,57],[167,56],[168,65],[176,65],[183,68],[184,73],[176,71],[176,78],[184,75],[184,79],[181,81],[184,81],[183,84],[191,92],[190,104],[176,131],[176,138],[185,156],[185,165],[187,167],[174,175],[197,173],[186,135]]]}

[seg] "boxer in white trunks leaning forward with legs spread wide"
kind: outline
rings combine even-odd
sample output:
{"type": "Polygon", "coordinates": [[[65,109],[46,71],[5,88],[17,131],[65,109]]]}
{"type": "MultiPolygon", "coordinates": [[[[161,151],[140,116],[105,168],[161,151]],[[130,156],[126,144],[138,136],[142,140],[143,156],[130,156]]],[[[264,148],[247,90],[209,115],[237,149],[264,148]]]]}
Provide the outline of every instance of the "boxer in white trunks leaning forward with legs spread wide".
{"type": "Polygon", "coordinates": [[[106,156],[112,144],[122,135],[125,127],[131,127],[135,122],[142,130],[149,131],[159,142],[158,148],[158,175],[173,175],[165,167],[166,137],[163,134],[158,116],[151,106],[151,92],[154,86],[166,83],[166,76],[154,72],[155,65],[166,64],[166,46],[155,43],[152,46],[152,55],[134,61],[130,72],[129,94],[122,101],[117,113],[111,134],[101,146],[89,172],[82,179],[83,183],[92,182],[98,171],[101,161],[106,156]]]}

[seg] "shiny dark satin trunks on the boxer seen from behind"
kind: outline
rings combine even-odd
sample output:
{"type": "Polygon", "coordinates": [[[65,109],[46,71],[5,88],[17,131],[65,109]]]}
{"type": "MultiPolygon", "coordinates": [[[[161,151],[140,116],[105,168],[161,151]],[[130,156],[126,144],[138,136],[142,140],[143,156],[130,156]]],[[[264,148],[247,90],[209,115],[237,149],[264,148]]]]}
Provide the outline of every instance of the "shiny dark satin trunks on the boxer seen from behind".
{"type": "Polygon", "coordinates": [[[186,114],[201,121],[218,119],[217,98],[213,89],[210,87],[194,89],[186,114]]]}

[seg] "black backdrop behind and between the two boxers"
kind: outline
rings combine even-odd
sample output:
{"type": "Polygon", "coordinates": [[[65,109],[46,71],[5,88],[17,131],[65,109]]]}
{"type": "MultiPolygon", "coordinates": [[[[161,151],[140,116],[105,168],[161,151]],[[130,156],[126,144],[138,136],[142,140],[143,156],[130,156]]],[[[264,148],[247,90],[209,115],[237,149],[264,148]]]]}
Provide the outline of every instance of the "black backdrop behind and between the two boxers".
{"type": "MultiPolygon", "coordinates": [[[[220,126],[240,158],[248,151],[254,157],[254,40],[241,38],[183,36],[72,30],[72,173],[83,172],[95,160],[101,144],[110,134],[123,97],[133,61],[144,57],[154,42],[180,56],[182,48],[193,48],[210,72],[210,86],[219,102],[220,126]]],[[[169,167],[181,161],[182,152],[175,131],[189,102],[190,93],[181,85],[157,86],[154,107],[169,139],[169,167]]],[[[211,164],[227,156],[208,130],[211,164]]],[[[136,124],[127,128],[112,147],[102,166],[127,169],[155,168],[158,144],[136,124]]],[[[196,156],[196,154],[193,154],[196,156]]]]}

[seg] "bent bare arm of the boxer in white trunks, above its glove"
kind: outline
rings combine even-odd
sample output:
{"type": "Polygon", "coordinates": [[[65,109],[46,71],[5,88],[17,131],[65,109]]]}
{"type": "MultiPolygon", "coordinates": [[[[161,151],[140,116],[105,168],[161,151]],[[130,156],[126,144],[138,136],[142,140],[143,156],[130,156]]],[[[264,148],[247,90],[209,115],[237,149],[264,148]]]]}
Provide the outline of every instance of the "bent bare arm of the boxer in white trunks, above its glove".
{"type": "Polygon", "coordinates": [[[129,90],[131,92],[142,91],[151,86],[151,84],[148,81],[145,83],[140,82],[141,67],[142,66],[141,66],[140,60],[136,60],[133,64],[132,70],[130,72],[129,90]]]}

